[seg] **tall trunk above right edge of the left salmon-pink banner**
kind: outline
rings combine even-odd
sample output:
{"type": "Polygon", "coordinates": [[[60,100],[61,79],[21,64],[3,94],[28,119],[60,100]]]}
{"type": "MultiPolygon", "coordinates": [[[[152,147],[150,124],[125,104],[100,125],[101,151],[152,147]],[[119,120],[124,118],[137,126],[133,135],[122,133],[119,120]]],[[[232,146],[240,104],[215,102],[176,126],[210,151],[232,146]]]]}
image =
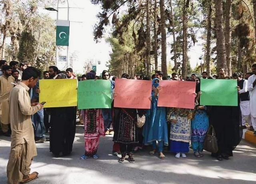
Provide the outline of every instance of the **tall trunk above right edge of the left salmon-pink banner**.
{"type": "Polygon", "coordinates": [[[150,0],[146,2],[146,22],[147,22],[147,32],[146,32],[146,75],[151,75],[151,68],[150,68],[150,0]]]}

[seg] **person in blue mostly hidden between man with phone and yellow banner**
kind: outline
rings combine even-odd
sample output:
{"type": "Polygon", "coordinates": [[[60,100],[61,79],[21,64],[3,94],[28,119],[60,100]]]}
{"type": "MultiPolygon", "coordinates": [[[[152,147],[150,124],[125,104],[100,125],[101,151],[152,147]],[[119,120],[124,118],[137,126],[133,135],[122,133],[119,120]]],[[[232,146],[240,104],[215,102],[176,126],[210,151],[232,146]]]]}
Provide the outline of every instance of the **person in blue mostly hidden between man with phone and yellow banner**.
{"type": "MultiPolygon", "coordinates": [[[[30,89],[31,103],[39,103],[39,80],[36,85],[30,89]]],[[[46,141],[45,126],[44,126],[44,109],[40,109],[32,116],[32,123],[34,128],[34,135],[36,143],[43,143],[46,141]]]]}

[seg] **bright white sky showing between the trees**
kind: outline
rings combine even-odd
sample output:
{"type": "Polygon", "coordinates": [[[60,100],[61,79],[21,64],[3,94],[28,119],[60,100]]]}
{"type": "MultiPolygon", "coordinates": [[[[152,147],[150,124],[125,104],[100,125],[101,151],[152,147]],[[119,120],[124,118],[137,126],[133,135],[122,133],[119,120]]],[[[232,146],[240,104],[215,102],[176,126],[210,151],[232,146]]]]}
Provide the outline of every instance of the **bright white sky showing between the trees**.
{"type": "MultiPolygon", "coordinates": [[[[73,64],[73,70],[76,73],[83,73],[85,63],[92,60],[93,63],[97,63],[97,75],[99,75],[104,69],[108,69],[106,63],[110,59],[109,54],[112,52],[110,44],[105,42],[109,32],[104,34],[99,43],[94,41],[93,27],[98,22],[96,15],[101,12],[100,6],[91,4],[90,0],[69,0],[69,6],[71,7],[69,16],[71,21],[69,56],[74,52],[78,55],[78,60],[73,64]],[[98,64],[98,61],[100,61],[100,64],[98,64]]],[[[66,5],[60,5],[59,7],[66,7],[66,5]]],[[[39,7],[39,11],[56,20],[56,12],[44,10],[43,7],[39,7]]],[[[59,19],[67,20],[66,8],[59,9],[59,19]]],[[[107,30],[110,30],[110,26],[108,26],[107,30]]],[[[172,55],[170,54],[171,47],[168,46],[168,43],[172,43],[172,36],[167,38],[167,62],[170,63],[172,55]]],[[[196,67],[197,63],[200,63],[198,58],[204,54],[202,43],[203,41],[199,40],[188,51],[192,68],[196,67]]],[[[62,51],[59,55],[66,55],[66,51],[62,51]]],[[[159,56],[159,61],[160,58],[161,56],[159,56]]],[[[173,66],[173,61],[171,63],[173,66]]],[[[62,66],[64,67],[63,64],[62,66]]]]}

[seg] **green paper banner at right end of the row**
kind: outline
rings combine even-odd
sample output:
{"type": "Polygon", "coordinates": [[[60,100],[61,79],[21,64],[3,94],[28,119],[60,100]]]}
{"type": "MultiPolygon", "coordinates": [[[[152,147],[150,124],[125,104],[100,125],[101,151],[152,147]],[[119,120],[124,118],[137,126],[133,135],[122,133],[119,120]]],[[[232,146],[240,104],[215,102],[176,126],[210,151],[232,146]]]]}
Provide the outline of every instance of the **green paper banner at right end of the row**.
{"type": "Polygon", "coordinates": [[[238,106],[237,80],[201,79],[200,105],[238,106]]]}

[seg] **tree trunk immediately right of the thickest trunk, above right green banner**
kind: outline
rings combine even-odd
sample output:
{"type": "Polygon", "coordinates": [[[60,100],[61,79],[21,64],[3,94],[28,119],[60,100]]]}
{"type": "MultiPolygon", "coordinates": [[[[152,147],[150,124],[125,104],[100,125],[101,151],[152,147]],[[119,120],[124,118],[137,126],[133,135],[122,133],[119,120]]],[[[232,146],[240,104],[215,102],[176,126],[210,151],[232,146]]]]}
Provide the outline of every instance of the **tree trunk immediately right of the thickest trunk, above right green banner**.
{"type": "Polygon", "coordinates": [[[225,20],[225,42],[226,42],[226,62],[228,67],[228,76],[232,75],[231,66],[231,4],[232,0],[226,0],[226,20],[225,20]]]}

